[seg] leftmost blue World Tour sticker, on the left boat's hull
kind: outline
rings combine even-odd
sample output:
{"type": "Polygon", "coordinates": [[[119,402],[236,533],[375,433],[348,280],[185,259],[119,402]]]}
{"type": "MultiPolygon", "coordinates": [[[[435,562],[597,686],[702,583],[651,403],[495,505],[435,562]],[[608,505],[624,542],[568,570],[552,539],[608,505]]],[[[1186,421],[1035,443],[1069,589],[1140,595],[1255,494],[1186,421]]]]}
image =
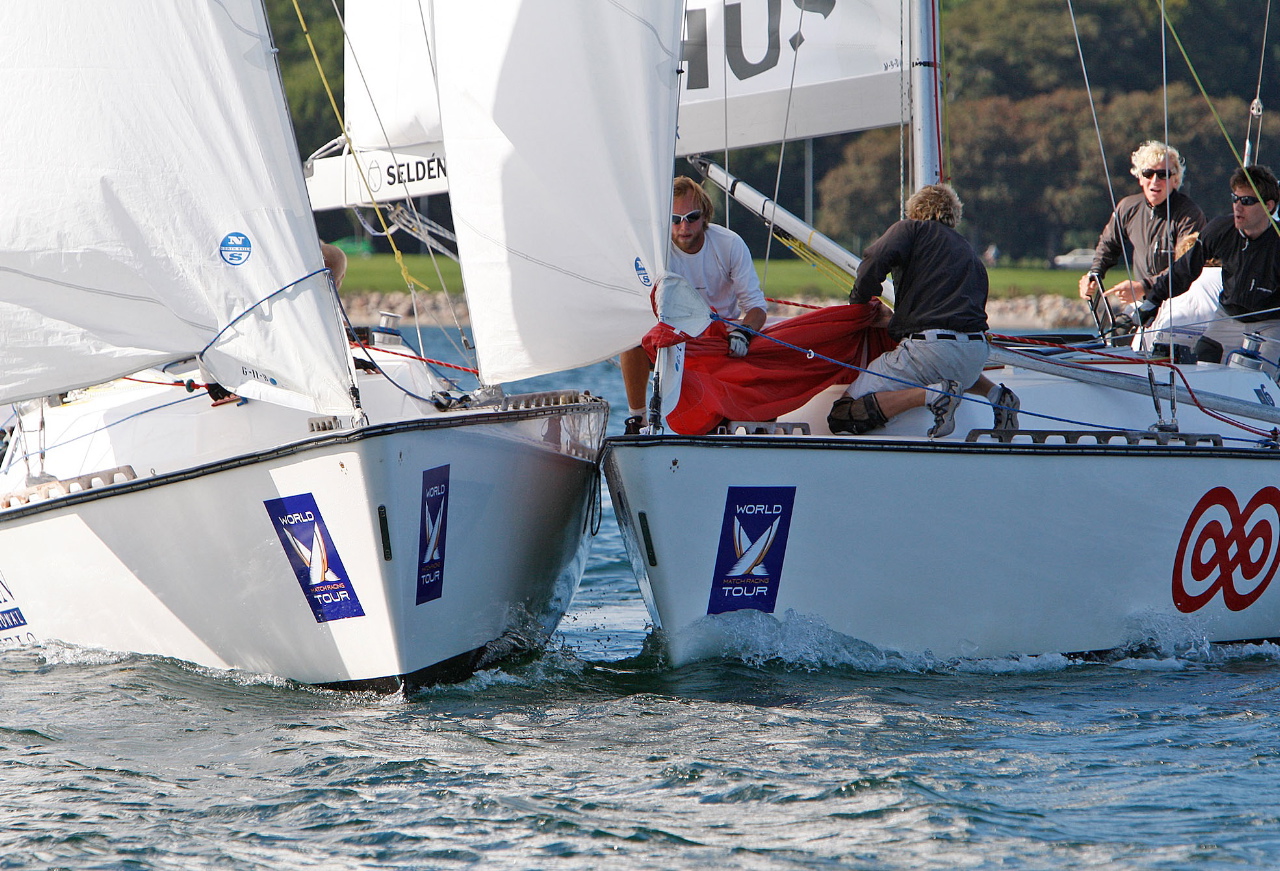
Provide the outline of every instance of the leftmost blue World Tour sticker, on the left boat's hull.
{"type": "Polygon", "coordinates": [[[315,496],[300,493],[265,500],[262,505],[271,516],[275,534],[280,537],[284,555],[293,566],[316,623],[365,616],[315,496]]]}

